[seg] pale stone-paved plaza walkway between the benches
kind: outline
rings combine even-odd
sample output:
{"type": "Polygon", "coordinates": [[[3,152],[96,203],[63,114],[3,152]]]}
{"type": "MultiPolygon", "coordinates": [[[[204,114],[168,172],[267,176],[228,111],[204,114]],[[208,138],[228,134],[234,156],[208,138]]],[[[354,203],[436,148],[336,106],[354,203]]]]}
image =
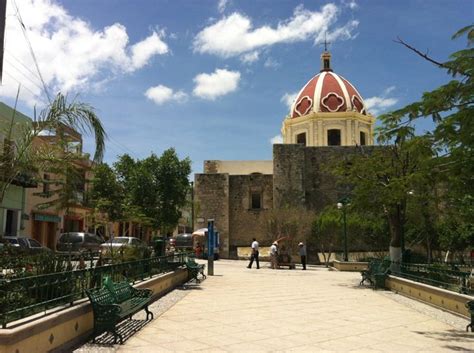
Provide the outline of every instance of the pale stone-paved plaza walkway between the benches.
{"type": "Polygon", "coordinates": [[[181,291],[173,306],[124,345],[88,344],[79,351],[474,351],[474,333],[464,331],[467,320],[359,287],[359,273],[246,265],[216,262],[215,276],[181,291]]]}

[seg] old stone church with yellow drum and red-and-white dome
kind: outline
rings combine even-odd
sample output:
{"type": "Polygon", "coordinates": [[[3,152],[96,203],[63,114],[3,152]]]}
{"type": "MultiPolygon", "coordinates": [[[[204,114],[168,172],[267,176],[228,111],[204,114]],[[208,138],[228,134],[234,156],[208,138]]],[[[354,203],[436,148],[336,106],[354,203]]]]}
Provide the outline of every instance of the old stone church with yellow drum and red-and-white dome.
{"type": "Polygon", "coordinates": [[[317,212],[335,204],[343,191],[323,166],[356,153],[358,146],[373,145],[374,123],[360,93],[332,70],[325,51],[321,71],[303,86],[283,120],[283,144],[273,145],[273,160],[204,162],[194,181],[194,228],[214,219],[221,256],[236,258],[237,247],[265,238],[262,224],[271,210],[317,212]]]}

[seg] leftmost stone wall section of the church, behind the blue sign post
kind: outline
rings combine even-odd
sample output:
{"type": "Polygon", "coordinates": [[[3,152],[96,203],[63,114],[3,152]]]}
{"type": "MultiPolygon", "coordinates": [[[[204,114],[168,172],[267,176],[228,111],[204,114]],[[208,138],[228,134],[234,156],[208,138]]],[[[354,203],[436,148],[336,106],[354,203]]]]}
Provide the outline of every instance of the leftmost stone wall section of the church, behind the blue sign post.
{"type": "Polygon", "coordinates": [[[194,201],[196,217],[194,229],[207,227],[207,220],[214,219],[220,234],[221,256],[229,256],[229,175],[195,174],[194,201]],[[203,223],[199,223],[204,219],[203,223]]]}

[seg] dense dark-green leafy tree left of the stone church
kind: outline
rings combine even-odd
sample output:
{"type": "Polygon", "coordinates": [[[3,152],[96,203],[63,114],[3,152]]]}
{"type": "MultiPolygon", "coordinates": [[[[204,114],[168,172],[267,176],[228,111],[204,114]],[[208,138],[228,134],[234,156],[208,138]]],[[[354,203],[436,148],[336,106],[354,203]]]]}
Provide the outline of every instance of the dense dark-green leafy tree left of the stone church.
{"type": "Polygon", "coordinates": [[[180,160],[173,148],[160,157],[151,154],[143,160],[134,160],[125,154],[114,163],[113,172],[114,178],[111,171],[105,169],[97,175],[92,190],[96,202],[101,200],[103,205],[117,205],[116,201],[120,199],[122,220],[159,228],[163,233],[169,233],[177,226],[190,190],[189,158],[180,160]],[[117,185],[110,184],[112,180],[117,185]]]}

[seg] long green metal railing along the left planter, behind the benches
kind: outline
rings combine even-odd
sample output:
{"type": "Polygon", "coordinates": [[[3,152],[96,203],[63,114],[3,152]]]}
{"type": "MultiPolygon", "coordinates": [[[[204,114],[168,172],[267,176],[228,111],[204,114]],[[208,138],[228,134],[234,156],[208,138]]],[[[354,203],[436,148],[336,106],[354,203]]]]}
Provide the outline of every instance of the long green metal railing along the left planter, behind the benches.
{"type": "Polygon", "coordinates": [[[102,278],[114,281],[143,281],[153,275],[174,271],[184,264],[186,253],[151,257],[136,261],[81,270],[20,278],[0,279],[0,324],[7,324],[61,305],[73,305],[85,298],[86,290],[101,285],[102,278]]]}

